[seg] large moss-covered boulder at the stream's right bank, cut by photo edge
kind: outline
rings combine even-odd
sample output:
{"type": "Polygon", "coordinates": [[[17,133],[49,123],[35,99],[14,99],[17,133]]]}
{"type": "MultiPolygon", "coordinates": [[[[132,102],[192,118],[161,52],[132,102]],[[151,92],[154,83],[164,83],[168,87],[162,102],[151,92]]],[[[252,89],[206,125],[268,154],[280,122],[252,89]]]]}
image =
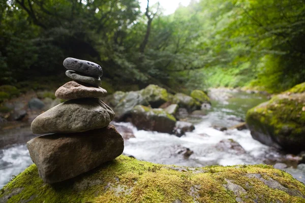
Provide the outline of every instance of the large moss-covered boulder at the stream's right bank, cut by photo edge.
{"type": "Polygon", "coordinates": [[[305,143],[305,92],[302,83],[249,110],[252,137],[263,144],[298,153],[305,143]]]}

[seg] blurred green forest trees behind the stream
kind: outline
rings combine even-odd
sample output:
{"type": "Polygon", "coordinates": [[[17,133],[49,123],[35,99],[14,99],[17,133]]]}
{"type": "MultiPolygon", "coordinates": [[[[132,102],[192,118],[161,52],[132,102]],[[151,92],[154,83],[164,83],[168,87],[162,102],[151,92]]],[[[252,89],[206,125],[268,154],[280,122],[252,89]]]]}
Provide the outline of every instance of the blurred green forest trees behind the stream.
{"type": "Polygon", "coordinates": [[[151,83],[273,93],[305,80],[304,0],[192,0],[170,15],[137,0],[0,4],[0,85],[62,84],[66,57],[100,64],[110,93],[151,83]]]}

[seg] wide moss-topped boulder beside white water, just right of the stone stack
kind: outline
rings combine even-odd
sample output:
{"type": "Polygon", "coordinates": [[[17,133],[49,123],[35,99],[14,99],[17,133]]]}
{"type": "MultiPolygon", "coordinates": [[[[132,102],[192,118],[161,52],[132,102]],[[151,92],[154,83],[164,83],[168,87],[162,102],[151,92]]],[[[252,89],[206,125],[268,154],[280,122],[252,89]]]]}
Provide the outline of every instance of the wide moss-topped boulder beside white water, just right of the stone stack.
{"type": "Polygon", "coordinates": [[[172,133],[176,119],[164,109],[151,109],[139,105],[131,111],[131,122],[138,129],[172,133]]]}

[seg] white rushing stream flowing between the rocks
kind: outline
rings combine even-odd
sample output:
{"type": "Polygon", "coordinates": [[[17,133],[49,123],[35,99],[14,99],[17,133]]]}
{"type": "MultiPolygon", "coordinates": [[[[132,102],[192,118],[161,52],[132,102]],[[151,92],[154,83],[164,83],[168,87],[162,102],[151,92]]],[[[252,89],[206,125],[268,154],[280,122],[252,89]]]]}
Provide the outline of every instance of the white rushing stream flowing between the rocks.
{"type": "MultiPolygon", "coordinates": [[[[253,140],[248,129],[220,131],[214,128],[240,123],[245,119],[247,110],[266,101],[266,96],[230,91],[216,93],[211,98],[214,100],[211,108],[206,110],[206,116],[189,118],[188,121],[195,124],[195,130],[181,138],[167,133],[137,130],[130,123],[119,123],[132,128],[136,137],[126,141],[124,153],[140,160],[184,166],[274,164],[287,156],[293,160],[293,156],[281,154],[253,140]],[[222,140],[228,139],[234,140],[243,149],[219,145],[222,140]],[[190,150],[193,154],[185,157],[183,154],[190,150]]],[[[25,144],[0,149],[0,188],[32,163],[25,144]]],[[[287,165],[291,166],[285,169],[287,172],[305,182],[304,171],[294,169],[293,161],[287,165]]]]}

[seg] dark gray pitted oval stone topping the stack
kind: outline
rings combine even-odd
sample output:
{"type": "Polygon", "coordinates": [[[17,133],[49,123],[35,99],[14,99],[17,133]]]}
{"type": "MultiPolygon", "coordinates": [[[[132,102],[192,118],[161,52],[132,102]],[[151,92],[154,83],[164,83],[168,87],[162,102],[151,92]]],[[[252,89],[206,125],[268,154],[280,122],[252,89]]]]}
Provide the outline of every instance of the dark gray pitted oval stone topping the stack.
{"type": "Polygon", "coordinates": [[[99,64],[87,60],[80,60],[77,58],[66,58],[63,62],[68,70],[77,71],[84,75],[101,77],[103,69],[99,64]]]}

